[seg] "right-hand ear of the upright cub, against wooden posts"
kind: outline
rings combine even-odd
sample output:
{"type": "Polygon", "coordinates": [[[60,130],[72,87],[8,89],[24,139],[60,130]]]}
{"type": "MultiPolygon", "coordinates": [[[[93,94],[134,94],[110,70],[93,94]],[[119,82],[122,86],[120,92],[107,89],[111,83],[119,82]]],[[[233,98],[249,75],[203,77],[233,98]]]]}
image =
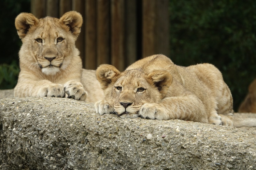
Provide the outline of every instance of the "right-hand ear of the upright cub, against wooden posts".
{"type": "Polygon", "coordinates": [[[68,26],[69,31],[75,35],[76,37],[79,36],[81,32],[81,27],[83,24],[83,17],[80,13],[76,11],[69,11],[60,17],[60,23],[68,26]]]}

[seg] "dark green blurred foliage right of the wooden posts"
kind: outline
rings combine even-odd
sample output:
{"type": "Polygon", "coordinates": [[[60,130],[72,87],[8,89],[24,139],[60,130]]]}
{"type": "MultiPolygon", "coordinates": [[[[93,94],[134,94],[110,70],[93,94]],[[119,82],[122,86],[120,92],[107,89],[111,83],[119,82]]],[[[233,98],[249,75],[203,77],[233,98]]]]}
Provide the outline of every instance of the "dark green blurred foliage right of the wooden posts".
{"type": "Polygon", "coordinates": [[[214,64],[231,89],[234,110],[256,77],[256,1],[170,0],[170,58],[214,64]]]}

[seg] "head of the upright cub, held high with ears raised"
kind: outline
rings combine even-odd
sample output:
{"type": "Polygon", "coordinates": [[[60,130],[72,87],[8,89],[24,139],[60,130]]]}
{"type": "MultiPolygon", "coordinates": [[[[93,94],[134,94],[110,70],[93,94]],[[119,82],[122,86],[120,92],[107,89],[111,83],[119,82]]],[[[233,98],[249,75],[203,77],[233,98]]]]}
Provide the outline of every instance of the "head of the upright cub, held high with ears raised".
{"type": "Polygon", "coordinates": [[[30,13],[19,14],[15,27],[23,43],[19,52],[20,67],[38,67],[46,75],[65,69],[71,57],[79,55],[75,40],[82,23],[81,14],[75,11],[65,13],[60,19],[37,19],[30,13]]]}

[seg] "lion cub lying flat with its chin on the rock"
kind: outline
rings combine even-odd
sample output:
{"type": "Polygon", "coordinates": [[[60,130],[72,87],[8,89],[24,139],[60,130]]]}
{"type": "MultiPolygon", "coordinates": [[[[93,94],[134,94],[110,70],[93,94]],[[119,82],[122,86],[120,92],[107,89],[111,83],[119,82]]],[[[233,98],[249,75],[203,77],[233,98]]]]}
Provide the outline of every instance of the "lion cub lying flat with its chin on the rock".
{"type": "Polygon", "coordinates": [[[100,65],[96,76],[105,96],[95,104],[100,115],[115,112],[121,118],[256,126],[256,119],[233,120],[231,92],[211,64],[181,67],[159,54],[133,63],[124,72],[100,65]]]}

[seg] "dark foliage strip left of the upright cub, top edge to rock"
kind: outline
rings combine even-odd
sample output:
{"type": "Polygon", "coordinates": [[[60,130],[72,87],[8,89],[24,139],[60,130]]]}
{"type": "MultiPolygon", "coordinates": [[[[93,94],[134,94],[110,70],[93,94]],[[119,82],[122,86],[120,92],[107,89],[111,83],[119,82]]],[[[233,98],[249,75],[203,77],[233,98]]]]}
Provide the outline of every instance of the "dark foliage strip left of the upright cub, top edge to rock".
{"type": "Polygon", "coordinates": [[[14,88],[17,83],[18,51],[22,42],[14,21],[21,12],[30,12],[30,0],[0,0],[0,89],[14,88]]]}

